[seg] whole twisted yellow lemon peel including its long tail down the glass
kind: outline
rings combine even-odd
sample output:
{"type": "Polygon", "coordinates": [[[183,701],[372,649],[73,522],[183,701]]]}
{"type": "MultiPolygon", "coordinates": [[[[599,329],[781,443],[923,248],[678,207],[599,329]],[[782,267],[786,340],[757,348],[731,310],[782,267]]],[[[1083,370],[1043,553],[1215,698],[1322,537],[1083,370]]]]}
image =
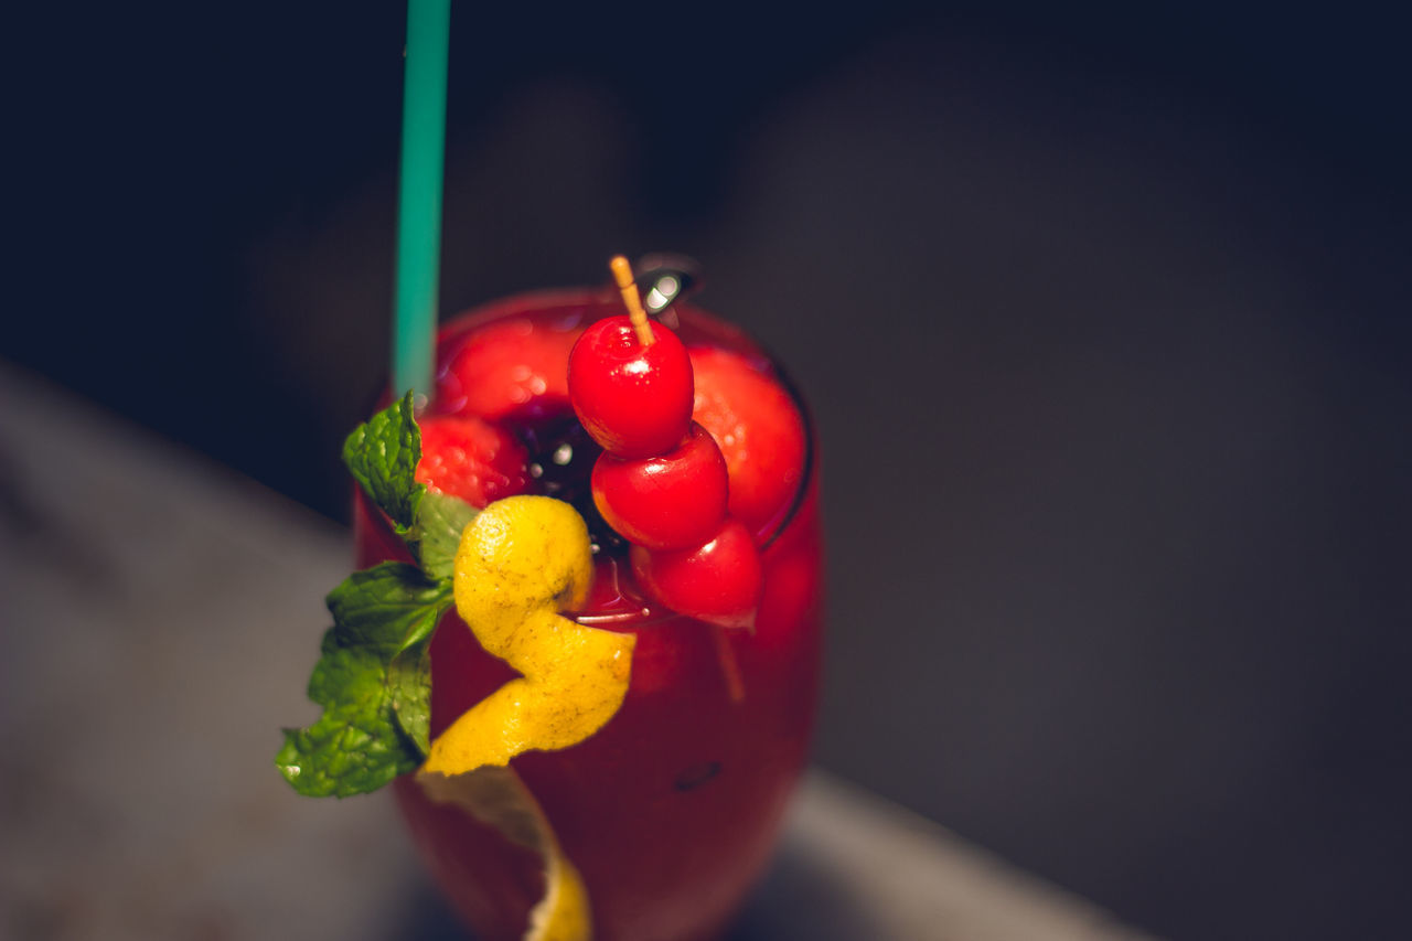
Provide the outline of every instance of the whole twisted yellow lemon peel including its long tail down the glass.
{"type": "Polygon", "coordinates": [[[456,719],[431,745],[418,781],[539,853],[545,894],[525,941],[587,941],[589,894],[554,828],[510,759],[566,749],[623,705],[637,637],[585,627],[559,612],[582,606],[593,584],[583,517],[561,500],[491,503],[462,531],[452,575],[456,613],[491,656],[522,675],[456,719]]]}

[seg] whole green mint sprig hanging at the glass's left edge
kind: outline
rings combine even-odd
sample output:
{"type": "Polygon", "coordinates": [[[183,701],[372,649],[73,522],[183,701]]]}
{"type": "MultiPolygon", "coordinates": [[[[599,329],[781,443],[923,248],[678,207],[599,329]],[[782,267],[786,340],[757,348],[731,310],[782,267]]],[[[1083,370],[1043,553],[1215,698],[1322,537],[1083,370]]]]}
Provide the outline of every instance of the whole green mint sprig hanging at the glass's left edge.
{"type": "Polygon", "coordinates": [[[409,391],[343,445],[349,472],[418,564],[383,562],[353,572],[329,593],[333,627],[309,677],[309,698],[323,714],[306,729],[285,729],[275,754],[281,774],[301,794],[376,791],[417,769],[431,750],[428,650],[453,603],[456,547],[476,510],[418,483],[421,455],[409,391]]]}

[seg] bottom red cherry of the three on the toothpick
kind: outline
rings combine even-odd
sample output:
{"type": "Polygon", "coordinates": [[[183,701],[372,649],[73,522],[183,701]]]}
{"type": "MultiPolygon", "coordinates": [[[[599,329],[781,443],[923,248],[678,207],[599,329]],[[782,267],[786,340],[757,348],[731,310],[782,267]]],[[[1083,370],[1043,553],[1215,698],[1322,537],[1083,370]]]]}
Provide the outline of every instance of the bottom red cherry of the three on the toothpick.
{"type": "Polygon", "coordinates": [[[764,589],[760,550],[740,520],[727,519],[706,544],[689,550],[628,550],[633,574],[654,599],[722,627],[750,627],[764,589]]]}

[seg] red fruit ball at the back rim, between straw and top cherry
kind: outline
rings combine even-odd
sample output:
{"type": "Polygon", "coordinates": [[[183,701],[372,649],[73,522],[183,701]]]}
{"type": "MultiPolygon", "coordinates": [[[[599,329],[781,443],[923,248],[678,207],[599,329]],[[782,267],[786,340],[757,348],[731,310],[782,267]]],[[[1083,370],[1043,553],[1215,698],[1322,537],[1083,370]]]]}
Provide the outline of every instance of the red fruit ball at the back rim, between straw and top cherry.
{"type": "Polygon", "coordinates": [[[569,350],[580,332],[515,316],[453,341],[436,377],[438,406],[491,421],[565,411],[569,350]]]}

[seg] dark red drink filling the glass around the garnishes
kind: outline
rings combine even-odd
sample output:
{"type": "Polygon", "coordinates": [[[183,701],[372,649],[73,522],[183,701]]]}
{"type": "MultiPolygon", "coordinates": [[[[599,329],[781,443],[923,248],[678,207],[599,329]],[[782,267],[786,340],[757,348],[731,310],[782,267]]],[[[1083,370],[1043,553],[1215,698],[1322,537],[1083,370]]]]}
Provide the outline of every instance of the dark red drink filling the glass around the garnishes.
{"type": "MultiPolygon", "coordinates": [[[[618,311],[613,291],[510,298],[449,324],[441,363],[507,318],[534,331],[572,331],[618,311]]],[[[768,365],[736,328],[683,305],[678,312],[688,346],[720,346],[768,365]]],[[[446,393],[432,411],[462,404],[446,393]]],[[[549,389],[503,421],[542,422],[566,407],[549,389]]],[[[599,554],[593,599],[576,617],[637,634],[627,698],[593,738],[522,754],[513,767],[582,873],[600,941],[710,938],[768,862],[815,714],[822,589],[815,465],[806,458],[796,499],[761,534],[765,589],[753,633],[652,609],[633,585],[626,555],[607,547],[599,554]]],[[[361,495],[354,533],[360,567],[407,558],[361,495]]],[[[432,735],[514,675],[448,615],[432,641],[432,735]]],[[[418,849],[476,935],[520,938],[544,892],[539,860],[462,811],[431,804],[409,779],[395,790],[418,849]]]]}

